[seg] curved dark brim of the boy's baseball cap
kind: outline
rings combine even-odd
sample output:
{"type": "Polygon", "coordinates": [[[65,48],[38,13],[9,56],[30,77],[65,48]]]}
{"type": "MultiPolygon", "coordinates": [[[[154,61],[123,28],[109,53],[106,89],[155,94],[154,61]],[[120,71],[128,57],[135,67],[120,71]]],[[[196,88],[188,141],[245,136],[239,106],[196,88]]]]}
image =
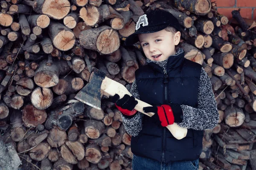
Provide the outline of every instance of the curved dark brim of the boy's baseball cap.
{"type": "Polygon", "coordinates": [[[147,34],[147,33],[153,33],[153,32],[157,32],[157,31],[161,31],[164,28],[166,28],[167,26],[169,26],[169,24],[163,24],[163,25],[160,25],[160,26],[140,28],[137,32],[134,32],[133,34],[129,35],[125,39],[125,45],[126,46],[133,45],[136,42],[138,42],[139,41],[138,34],[147,34]]]}

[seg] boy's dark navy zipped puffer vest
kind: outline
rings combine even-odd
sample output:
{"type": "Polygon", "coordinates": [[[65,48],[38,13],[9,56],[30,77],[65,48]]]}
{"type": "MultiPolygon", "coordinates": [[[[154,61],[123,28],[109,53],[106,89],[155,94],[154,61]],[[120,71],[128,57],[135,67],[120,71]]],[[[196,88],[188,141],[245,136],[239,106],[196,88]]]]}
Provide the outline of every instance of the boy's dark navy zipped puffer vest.
{"type": "MultiPolygon", "coordinates": [[[[198,82],[202,66],[184,58],[184,52],[168,59],[166,70],[153,62],[140,67],[136,82],[140,99],[150,105],[170,102],[198,107],[198,82]]],[[[155,116],[155,115],[154,115],[155,116]]],[[[198,159],[202,151],[203,130],[188,129],[185,138],[177,140],[156,119],[143,117],[143,129],[131,139],[131,151],[157,161],[198,159]]]]}

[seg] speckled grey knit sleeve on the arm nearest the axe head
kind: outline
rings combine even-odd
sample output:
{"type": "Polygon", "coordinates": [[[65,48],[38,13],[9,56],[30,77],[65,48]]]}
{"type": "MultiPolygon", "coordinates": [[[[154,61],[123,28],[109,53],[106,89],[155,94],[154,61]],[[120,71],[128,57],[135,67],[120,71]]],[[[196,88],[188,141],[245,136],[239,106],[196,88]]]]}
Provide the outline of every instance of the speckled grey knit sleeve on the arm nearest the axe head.
{"type": "MultiPolygon", "coordinates": [[[[130,91],[132,96],[134,96],[136,99],[140,99],[136,80],[134,80],[131,86],[126,85],[125,87],[128,89],[128,91],[130,91]]],[[[122,115],[122,121],[125,126],[125,130],[131,136],[137,136],[140,133],[140,130],[142,130],[142,120],[143,120],[143,113],[140,113],[140,112],[136,113],[135,116],[131,118],[122,115]]]]}

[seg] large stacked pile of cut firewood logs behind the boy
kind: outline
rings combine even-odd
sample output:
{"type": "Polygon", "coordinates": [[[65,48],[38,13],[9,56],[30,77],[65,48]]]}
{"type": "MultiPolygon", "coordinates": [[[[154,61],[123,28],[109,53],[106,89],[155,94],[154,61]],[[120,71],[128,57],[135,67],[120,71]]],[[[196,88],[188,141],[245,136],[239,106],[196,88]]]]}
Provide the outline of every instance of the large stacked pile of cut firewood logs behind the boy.
{"type": "Polygon", "coordinates": [[[123,85],[134,81],[146,60],[139,44],[123,42],[140,15],[159,8],[179,20],[185,58],[207,71],[218,103],[219,124],[204,132],[199,169],[255,170],[255,23],[239,10],[229,21],[217,5],[1,0],[0,144],[8,149],[0,167],[17,169],[21,161],[20,170],[131,170],[131,136],[109,96],[102,94],[102,110],[74,96],[93,67],[123,85]]]}

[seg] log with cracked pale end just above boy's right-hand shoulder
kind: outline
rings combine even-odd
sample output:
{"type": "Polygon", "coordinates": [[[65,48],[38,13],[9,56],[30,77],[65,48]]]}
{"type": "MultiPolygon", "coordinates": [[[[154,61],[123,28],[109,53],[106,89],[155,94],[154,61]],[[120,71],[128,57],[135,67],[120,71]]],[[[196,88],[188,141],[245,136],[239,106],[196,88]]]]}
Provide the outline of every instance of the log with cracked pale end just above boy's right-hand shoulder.
{"type": "Polygon", "coordinates": [[[197,62],[198,64],[203,63],[203,54],[201,53],[201,51],[199,51],[197,48],[195,48],[193,45],[190,45],[186,42],[182,42],[180,43],[180,45],[182,46],[184,52],[185,52],[185,58],[189,59],[193,62],[197,62]]]}

